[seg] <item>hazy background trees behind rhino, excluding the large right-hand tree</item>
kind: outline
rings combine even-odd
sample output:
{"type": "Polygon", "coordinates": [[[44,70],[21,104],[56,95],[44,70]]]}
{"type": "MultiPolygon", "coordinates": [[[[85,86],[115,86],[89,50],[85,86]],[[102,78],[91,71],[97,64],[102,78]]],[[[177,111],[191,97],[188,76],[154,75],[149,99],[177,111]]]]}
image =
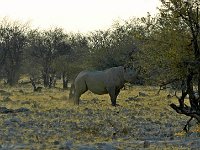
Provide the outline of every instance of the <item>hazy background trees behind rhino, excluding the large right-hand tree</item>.
{"type": "Polygon", "coordinates": [[[4,18],[0,21],[0,78],[15,85],[22,75],[52,87],[62,78],[63,88],[83,69],[124,65],[137,49],[132,24],[116,23],[106,31],[87,35],[62,28],[31,29],[4,18]]]}

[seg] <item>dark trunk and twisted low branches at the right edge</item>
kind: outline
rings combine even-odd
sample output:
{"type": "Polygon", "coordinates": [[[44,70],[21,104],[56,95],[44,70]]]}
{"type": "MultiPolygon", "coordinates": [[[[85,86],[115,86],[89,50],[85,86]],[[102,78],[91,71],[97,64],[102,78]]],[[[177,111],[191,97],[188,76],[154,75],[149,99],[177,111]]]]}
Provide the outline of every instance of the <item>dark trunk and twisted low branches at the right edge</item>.
{"type": "Polygon", "coordinates": [[[196,118],[200,122],[200,16],[199,16],[199,0],[179,0],[174,1],[162,0],[163,6],[174,17],[181,19],[187,26],[188,38],[190,39],[190,48],[193,53],[193,60],[185,62],[185,69],[187,69],[186,83],[187,89],[182,91],[182,96],[178,98],[180,106],[171,104],[171,107],[180,114],[196,118]],[[195,96],[194,78],[197,77],[198,96],[195,96]],[[184,99],[189,95],[190,107],[186,106],[184,99]]]}

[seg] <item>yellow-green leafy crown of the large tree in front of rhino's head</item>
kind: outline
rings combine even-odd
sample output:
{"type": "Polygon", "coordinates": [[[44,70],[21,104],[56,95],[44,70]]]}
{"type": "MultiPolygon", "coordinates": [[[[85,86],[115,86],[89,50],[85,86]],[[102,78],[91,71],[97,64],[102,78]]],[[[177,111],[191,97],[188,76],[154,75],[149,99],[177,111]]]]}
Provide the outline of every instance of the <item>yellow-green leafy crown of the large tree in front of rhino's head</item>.
{"type": "Polygon", "coordinates": [[[162,2],[160,13],[156,17],[148,15],[141,19],[146,34],[140,35],[140,40],[143,42],[137,56],[147,80],[154,83],[185,78],[187,75],[185,63],[194,61],[196,57],[188,24],[177,17],[175,8],[168,8],[173,3],[176,5],[176,2],[181,1],[162,2]]]}

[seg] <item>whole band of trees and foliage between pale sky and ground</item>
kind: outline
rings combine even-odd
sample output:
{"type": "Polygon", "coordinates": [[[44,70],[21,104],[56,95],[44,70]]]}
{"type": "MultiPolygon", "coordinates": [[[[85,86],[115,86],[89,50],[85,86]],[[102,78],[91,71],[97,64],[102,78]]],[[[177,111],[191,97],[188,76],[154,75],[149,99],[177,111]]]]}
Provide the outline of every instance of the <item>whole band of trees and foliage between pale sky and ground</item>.
{"type": "Polygon", "coordinates": [[[156,16],[115,22],[110,29],[86,35],[61,28],[31,29],[3,19],[0,78],[15,85],[25,74],[52,87],[59,77],[66,87],[80,70],[128,64],[141,68],[146,84],[186,79],[188,68],[200,58],[199,1],[161,2],[156,16]]]}

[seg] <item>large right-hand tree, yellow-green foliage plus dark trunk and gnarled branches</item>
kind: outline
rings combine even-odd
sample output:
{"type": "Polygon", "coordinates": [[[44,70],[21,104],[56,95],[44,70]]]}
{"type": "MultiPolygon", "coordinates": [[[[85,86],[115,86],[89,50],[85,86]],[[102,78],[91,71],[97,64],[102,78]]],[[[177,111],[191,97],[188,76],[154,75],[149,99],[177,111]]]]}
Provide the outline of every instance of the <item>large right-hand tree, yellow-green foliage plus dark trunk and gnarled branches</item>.
{"type": "MultiPolygon", "coordinates": [[[[181,80],[186,88],[178,97],[179,106],[170,106],[177,113],[196,118],[200,122],[200,16],[199,0],[161,0],[162,6],[156,18],[143,18],[141,39],[143,45],[138,54],[149,79],[156,83],[181,80]],[[195,91],[195,78],[197,88],[195,91]],[[184,103],[189,95],[190,106],[184,103]]],[[[191,120],[191,119],[190,119],[191,120]]]]}

